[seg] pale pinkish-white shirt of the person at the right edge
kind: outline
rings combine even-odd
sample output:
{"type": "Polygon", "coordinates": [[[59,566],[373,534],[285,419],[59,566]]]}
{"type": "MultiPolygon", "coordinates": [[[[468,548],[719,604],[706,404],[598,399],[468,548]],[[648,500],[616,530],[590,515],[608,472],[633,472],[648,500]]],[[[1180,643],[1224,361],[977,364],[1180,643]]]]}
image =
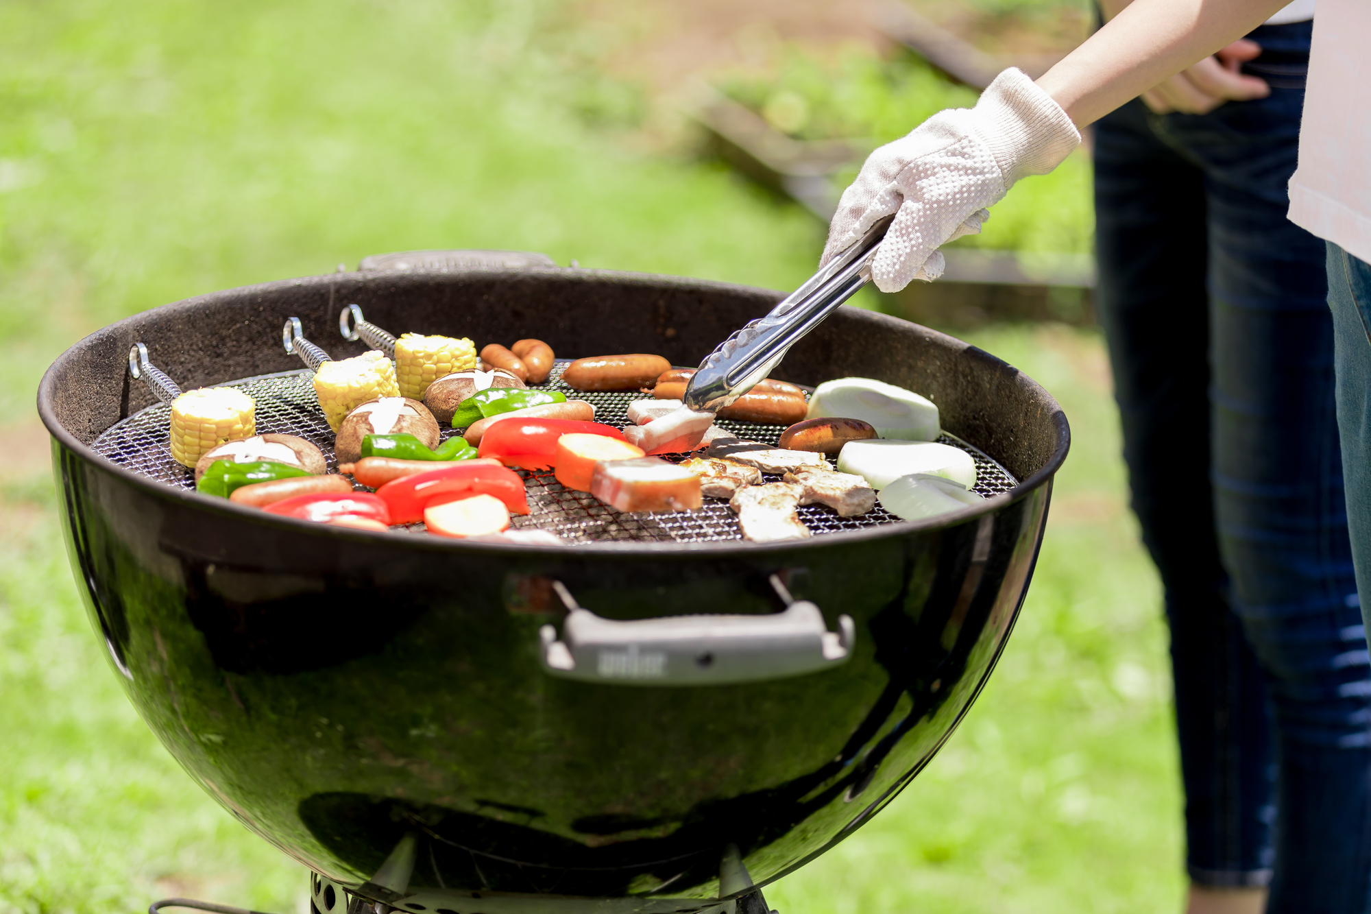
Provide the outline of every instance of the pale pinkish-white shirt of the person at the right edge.
{"type": "Polygon", "coordinates": [[[1319,0],[1290,221],[1371,261],[1371,0],[1319,0]]]}

